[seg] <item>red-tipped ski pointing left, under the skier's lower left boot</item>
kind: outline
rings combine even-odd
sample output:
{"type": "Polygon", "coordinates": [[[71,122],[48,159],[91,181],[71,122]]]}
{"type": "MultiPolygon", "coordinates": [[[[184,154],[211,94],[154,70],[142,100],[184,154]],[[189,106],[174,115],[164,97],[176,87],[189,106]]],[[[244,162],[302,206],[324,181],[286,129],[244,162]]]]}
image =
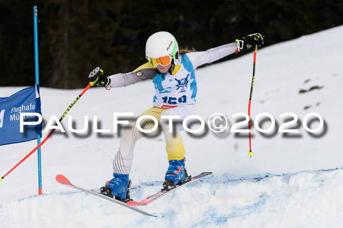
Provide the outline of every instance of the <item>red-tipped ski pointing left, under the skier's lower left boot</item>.
{"type": "Polygon", "coordinates": [[[92,190],[88,190],[88,189],[84,189],[84,188],[82,188],[82,187],[74,186],[74,185],[72,185],[72,183],[70,183],[70,181],[69,181],[65,176],[63,176],[63,175],[57,175],[57,176],[56,176],[56,181],[57,181],[58,183],[62,184],[62,185],[65,185],[65,186],[68,186],[68,187],[73,187],[73,188],[78,189],[78,190],[80,190],[80,191],[87,192],[87,193],[89,193],[89,194],[98,196],[98,197],[100,197],[100,198],[102,198],[102,199],[109,200],[109,201],[111,201],[111,202],[113,202],[113,203],[116,203],[116,204],[119,204],[119,205],[121,205],[121,206],[127,207],[127,208],[129,208],[129,209],[131,209],[131,210],[134,210],[134,211],[137,211],[137,212],[139,212],[139,213],[141,213],[141,214],[148,215],[148,216],[152,216],[152,217],[157,217],[157,216],[155,216],[155,215],[152,215],[152,214],[147,213],[147,212],[144,211],[144,210],[141,210],[141,209],[136,208],[136,207],[129,206],[129,205],[125,204],[125,203],[122,202],[122,201],[119,201],[119,200],[110,198],[110,197],[105,196],[105,195],[103,195],[103,194],[101,194],[101,193],[98,193],[98,192],[95,192],[95,191],[92,191],[92,190]]]}

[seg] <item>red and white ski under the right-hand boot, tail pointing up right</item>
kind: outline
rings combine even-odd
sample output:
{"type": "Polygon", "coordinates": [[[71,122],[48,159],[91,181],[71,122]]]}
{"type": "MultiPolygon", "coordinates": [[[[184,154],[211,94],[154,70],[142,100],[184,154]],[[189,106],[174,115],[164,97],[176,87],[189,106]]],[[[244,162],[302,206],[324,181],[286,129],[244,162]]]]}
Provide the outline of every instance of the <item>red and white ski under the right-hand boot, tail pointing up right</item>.
{"type": "Polygon", "coordinates": [[[212,174],[212,172],[203,172],[203,173],[200,173],[199,175],[197,175],[195,177],[190,176],[189,180],[186,179],[181,185],[175,185],[175,187],[173,187],[171,189],[163,188],[163,189],[161,189],[161,191],[153,194],[152,196],[147,197],[144,200],[141,200],[140,202],[129,201],[126,204],[128,206],[145,206],[145,205],[150,204],[151,202],[161,198],[162,196],[165,196],[168,193],[171,193],[172,191],[179,189],[180,187],[184,187],[186,185],[189,185],[189,184],[191,184],[197,180],[200,180],[201,178],[204,178],[204,177],[211,175],[211,174],[212,174]]]}

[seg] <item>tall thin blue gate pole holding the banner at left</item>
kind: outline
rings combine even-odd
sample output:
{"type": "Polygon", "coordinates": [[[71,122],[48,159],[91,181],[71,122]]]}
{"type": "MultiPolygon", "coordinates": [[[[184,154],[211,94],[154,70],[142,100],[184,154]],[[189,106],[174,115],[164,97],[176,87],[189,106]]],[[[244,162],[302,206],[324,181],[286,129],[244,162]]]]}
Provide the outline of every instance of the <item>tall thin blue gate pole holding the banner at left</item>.
{"type": "MultiPolygon", "coordinates": [[[[33,24],[34,24],[34,62],[36,72],[36,87],[39,86],[38,73],[38,31],[37,31],[37,6],[33,6],[33,24]]],[[[37,134],[37,145],[41,143],[41,136],[37,134]]],[[[38,148],[38,195],[42,195],[42,170],[41,170],[41,147],[38,148]]]]}

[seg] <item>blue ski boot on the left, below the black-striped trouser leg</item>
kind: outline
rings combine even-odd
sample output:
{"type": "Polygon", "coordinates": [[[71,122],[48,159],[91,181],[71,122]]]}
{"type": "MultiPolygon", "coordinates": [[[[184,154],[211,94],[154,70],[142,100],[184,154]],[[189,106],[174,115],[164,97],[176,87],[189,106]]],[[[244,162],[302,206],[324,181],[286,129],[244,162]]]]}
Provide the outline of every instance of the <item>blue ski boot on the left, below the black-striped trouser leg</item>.
{"type": "Polygon", "coordinates": [[[130,199],[128,188],[131,185],[131,180],[128,179],[129,174],[113,173],[113,178],[106,182],[105,187],[101,187],[102,194],[117,200],[125,201],[130,199]]]}

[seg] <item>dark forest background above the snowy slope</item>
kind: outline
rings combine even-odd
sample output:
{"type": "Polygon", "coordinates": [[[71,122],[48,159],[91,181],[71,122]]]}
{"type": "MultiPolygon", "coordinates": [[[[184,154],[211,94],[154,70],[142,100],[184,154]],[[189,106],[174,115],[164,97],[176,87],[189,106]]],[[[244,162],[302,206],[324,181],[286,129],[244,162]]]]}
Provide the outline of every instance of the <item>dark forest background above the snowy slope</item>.
{"type": "Polygon", "coordinates": [[[1,86],[34,84],[34,5],[40,84],[54,88],[84,87],[95,66],[134,70],[157,31],[203,51],[254,32],[267,46],[343,24],[341,0],[0,0],[1,86]]]}

